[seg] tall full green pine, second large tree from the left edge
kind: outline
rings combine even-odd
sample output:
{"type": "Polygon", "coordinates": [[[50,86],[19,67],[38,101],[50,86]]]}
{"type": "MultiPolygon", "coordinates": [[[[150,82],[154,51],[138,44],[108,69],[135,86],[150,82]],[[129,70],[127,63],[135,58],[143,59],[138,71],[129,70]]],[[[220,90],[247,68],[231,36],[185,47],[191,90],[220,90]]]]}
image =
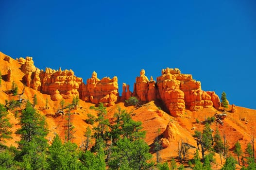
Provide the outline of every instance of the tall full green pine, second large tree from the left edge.
{"type": "Polygon", "coordinates": [[[20,135],[16,160],[19,161],[21,169],[43,170],[48,167],[46,162],[47,140],[44,138],[48,134],[45,117],[37,113],[28,101],[26,108],[20,115],[20,128],[17,134],[20,135]]]}

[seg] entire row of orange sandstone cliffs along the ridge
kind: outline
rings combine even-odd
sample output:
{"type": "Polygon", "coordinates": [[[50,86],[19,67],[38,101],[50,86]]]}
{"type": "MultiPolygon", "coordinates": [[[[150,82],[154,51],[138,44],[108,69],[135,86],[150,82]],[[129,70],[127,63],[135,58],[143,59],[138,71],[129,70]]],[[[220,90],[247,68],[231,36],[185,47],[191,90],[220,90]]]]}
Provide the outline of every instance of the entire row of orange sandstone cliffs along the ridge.
{"type": "MultiPolygon", "coordinates": [[[[11,62],[10,57],[5,61],[11,62]]],[[[123,84],[122,97],[119,97],[118,78],[104,77],[101,80],[94,71],[92,77],[87,79],[86,84],[82,78],[76,77],[70,70],[54,70],[46,68],[40,70],[34,66],[32,57],[17,59],[21,65],[20,70],[24,73],[23,83],[34,90],[51,95],[51,100],[70,99],[79,96],[86,102],[105,105],[113,105],[119,98],[124,101],[131,96],[137,97],[142,102],[161,100],[174,117],[181,117],[186,109],[197,111],[201,108],[219,108],[220,99],[211,91],[203,91],[201,82],[193,80],[191,74],[182,74],[178,68],[162,69],[162,75],[153,80],[148,79],[145,70],[140,71],[134,84],[134,92],[129,85],[123,84]]],[[[11,73],[8,71],[8,81],[12,81],[11,73]]]]}

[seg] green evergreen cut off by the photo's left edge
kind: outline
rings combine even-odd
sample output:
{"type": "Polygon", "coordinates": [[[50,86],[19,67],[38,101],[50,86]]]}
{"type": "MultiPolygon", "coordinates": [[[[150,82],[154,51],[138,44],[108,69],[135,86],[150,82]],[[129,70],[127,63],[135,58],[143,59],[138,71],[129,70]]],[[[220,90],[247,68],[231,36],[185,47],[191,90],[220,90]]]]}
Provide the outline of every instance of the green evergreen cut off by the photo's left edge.
{"type": "Polygon", "coordinates": [[[12,124],[9,122],[7,114],[8,112],[4,105],[0,104],[0,142],[4,141],[4,139],[12,138],[12,131],[10,130],[12,124]]]}

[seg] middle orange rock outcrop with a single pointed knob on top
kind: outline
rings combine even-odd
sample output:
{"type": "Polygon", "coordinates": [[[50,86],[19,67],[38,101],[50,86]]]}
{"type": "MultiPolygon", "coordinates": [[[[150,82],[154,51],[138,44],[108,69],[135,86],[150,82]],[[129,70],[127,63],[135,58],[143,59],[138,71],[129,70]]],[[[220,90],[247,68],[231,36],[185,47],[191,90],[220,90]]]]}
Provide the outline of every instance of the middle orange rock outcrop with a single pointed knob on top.
{"type": "Polygon", "coordinates": [[[118,92],[118,78],[113,79],[104,77],[102,80],[98,79],[97,73],[94,71],[92,77],[87,79],[87,84],[82,87],[81,99],[92,103],[107,103],[114,104],[119,98],[118,92]]]}

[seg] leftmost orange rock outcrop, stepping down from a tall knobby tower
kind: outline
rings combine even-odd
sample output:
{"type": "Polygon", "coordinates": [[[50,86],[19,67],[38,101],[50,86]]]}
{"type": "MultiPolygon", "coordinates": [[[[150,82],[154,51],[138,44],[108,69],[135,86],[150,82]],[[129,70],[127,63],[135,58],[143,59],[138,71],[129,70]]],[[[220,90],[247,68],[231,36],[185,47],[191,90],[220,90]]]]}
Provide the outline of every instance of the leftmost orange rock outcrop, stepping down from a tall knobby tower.
{"type": "Polygon", "coordinates": [[[25,74],[23,82],[34,90],[50,94],[52,100],[79,95],[83,80],[76,77],[71,69],[62,71],[61,68],[59,70],[46,68],[43,71],[35,68],[32,57],[19,58],[18,62],[22,64],[21,70],[25,74]]]}

